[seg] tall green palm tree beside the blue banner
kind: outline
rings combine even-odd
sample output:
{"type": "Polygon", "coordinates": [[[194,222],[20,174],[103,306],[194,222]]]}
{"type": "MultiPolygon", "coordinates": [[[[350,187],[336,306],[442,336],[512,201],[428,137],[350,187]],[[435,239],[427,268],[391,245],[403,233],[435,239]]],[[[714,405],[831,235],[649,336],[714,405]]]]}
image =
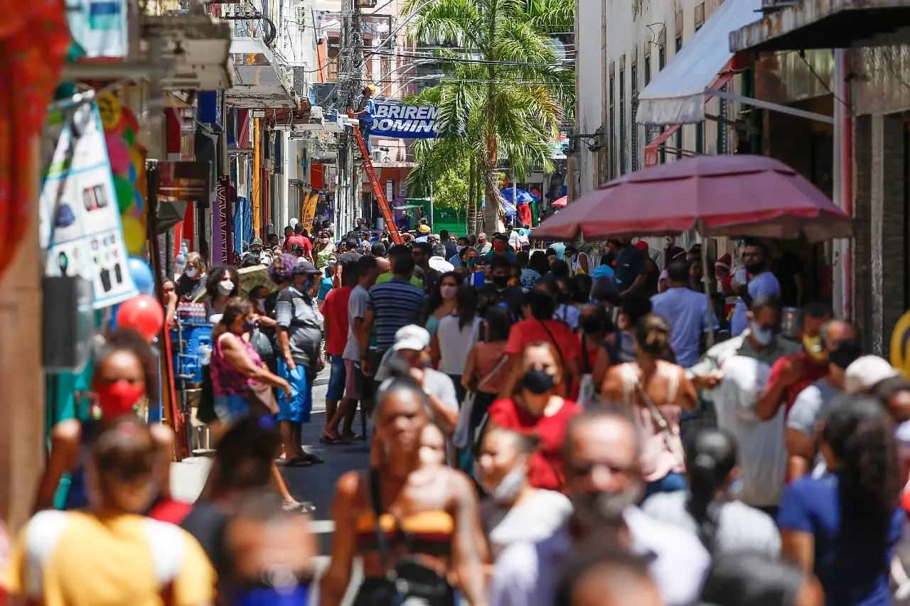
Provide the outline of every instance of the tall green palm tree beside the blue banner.
{"type": "MultiPolygon", "coordinates": [[[[532,167],[552,169],[548,143],[558,134],[564,108],[571,106],[574,75],[558,65],[547,34],[571,31],[574,3],[408,0],[405,14],[417,40],[460,45],[458,53],[440,52],[452,66],[420,100],[439,106],[440,136],[463,138],[470,146],[487,199],[484,224],[492,230],[501,212],[500,159],[508,158],[519,180],[532,167]]],[[[469,221],[470,216],[469,207],[469,221]]]]}

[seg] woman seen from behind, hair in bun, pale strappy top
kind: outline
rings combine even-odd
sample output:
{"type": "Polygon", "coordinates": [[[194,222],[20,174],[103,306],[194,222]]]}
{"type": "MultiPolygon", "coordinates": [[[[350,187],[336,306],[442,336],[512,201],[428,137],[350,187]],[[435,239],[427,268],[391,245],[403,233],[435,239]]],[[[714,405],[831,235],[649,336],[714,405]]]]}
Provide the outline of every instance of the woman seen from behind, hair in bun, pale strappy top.
{"type": "Polygon", "coordinates": [[[670,348],[670,325],[656,314],[641,318],[633,329],[634,362],[612,366],[601,388],[604,401],[631,407],[642,430],[645,496],[685,490],[685,455],[680,440],[680,411],[698,404],[685,369],[664,361],[670,348]]]}

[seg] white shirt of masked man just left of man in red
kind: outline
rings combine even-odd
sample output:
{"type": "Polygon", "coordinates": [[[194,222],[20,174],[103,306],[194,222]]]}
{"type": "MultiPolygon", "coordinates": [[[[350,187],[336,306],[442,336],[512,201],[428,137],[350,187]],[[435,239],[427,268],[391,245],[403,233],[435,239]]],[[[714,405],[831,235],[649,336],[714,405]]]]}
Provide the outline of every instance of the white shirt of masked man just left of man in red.
{"type": "Polygon", "coordinates": [[[743,490],[737,498],[753,507],[773,507],[784,494],[787,467],[784,417],[781,407],[773,419],[755,416],[755,404],[768,383],[771,367],[757,359],[733,356],[723,360],[723,379],[710,394],[717,427],[733,434],[739,446],[743,490]]]}

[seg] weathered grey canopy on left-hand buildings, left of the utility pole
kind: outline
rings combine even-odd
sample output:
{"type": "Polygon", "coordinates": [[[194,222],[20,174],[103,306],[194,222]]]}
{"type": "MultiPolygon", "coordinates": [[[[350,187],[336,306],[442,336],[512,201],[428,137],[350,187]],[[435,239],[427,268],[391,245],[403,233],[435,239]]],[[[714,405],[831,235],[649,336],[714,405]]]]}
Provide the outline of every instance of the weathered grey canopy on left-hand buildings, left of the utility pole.
{"type": "Polygon", "coordinates": [[[234,69],[234,86],[227,89],[227,104],[232,107],[262,109],[297,108],[283,74],[283,67],[265,42],[248,36],[234,36],[230,41],[230,64],[234,69]]]}

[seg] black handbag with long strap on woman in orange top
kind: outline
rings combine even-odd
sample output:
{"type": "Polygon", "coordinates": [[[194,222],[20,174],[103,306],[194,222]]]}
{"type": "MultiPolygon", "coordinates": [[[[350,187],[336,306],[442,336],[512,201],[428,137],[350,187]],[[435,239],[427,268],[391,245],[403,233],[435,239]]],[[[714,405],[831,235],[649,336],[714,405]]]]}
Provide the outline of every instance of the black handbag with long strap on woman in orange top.
{"type": "MultiPolygon", "coordinates": [[[[424,566],[412,554],[409,554],[389,567],[389,540],[385,530],[382,530],[380,518],[382,517],[382,490],[379,484],[379,470],[369,470],[369,493],[373,501],[373,512],[376,514],[376,539],[379,543],[379,561],[386,570],[386,579],[389,581],[391,599],[390,606],[399,606],[411,599],[416,599],[430,606],[452,606],[454,593],[445,577],[441,577],[433,569],[424,566]]],[[[408,533],[401,529],[399,520],[395,520],[402,542],[409,546],[408,533]]]]}

